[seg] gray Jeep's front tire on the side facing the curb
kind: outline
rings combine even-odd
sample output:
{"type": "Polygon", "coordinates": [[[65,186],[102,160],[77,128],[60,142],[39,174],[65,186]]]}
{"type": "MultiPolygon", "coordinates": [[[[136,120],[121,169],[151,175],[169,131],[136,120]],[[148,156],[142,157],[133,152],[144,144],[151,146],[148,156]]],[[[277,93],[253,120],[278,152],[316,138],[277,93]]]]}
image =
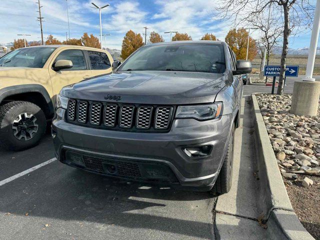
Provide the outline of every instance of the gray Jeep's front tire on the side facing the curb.
{"type": "Polygon", "coordinates": [[[234,145],[234,124],[232,125],[231,135],[228,142],[228,147],[223,160],[219,175],[215,181],[212,191],[223,194],[227,193],[232,184],[232,169],[233,169],[233,145],[234,145]]]}

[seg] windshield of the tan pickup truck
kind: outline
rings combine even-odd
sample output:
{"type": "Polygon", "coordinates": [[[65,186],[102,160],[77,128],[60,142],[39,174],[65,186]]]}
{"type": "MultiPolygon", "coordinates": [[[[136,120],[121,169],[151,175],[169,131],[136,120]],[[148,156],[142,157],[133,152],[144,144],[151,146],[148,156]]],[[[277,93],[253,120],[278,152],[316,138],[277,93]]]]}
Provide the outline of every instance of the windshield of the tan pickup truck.
{"type": "Polygon", "coordinates": [[[0,66],[43,67],[56,47],[19,48],[0,58],[0,66]]]}

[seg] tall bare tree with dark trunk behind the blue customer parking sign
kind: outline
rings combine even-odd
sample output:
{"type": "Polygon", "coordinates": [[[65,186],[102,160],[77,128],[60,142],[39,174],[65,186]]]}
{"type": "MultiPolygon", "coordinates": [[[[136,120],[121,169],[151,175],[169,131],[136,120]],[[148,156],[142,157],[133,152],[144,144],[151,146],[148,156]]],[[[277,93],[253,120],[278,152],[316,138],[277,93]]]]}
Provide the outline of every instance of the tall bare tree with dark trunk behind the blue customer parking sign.
{"type": "Polygon", "coordinates": [[[282,94],[289,35],[310,28],[314,14],[310,0],[220,0],[218,7],[214,8],[214,15],[230,20],[235,26],[253,26],[253,22],[263,18],[269,6],[272,6],[272,16],[279,15],[277,23],[283,34],[277,90],[277,94],[282,94]]]}

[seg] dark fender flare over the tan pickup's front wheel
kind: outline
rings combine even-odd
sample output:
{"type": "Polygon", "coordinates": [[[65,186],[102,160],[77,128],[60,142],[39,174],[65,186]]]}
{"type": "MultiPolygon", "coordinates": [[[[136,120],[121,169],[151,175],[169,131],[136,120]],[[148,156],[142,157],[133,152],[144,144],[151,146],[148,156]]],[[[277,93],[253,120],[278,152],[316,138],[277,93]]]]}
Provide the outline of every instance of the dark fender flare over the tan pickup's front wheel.
{"type": "Polygon", "coordinates": [[[47,90],[40,84],[21,84],[21,85],[14,85],[14,86],[7,86],[0,88],[0,103],[1,101],[11,95],[16,95],[20,93],[26,93],[26,92],[38,92],[40,93],[43,98],[45,99],[45,102],[48,106],[48,115],[54,114],[54,107],[53,103],[51,101],[50,95],[47,92],[47,90]]]}

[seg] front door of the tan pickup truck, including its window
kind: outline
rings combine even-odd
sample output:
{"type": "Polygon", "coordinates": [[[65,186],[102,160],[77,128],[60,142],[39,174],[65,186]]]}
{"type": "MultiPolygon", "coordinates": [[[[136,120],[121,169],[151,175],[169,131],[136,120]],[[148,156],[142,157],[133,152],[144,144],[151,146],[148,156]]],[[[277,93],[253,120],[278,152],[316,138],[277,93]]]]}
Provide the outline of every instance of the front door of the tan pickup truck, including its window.
{"type": "Polygon", "coordinates": [[[85,62],[84,54],[80,49],[67,49],[58,53],[51,66],[49,66],[49,73],[54,95],[59,93],[63,86],[79,82],[92,76],[85,62]],[[72,67],[54,71],[52,65],[59,59],[72,61],[72,67]]]}

